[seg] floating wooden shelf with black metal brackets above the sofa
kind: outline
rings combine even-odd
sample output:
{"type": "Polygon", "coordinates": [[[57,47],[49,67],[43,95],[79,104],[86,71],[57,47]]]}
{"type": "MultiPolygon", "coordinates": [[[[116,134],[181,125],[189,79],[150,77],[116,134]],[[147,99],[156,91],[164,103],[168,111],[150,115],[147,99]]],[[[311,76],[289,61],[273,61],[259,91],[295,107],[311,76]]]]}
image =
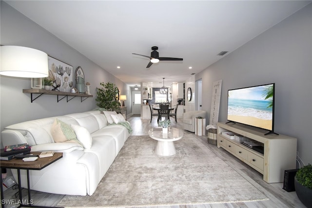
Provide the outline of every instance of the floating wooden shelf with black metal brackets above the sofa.
{"type": "Polygon", "coordinates": [[[57,95],[58,96],[58,103],[60,100],[64,99],[66,97],[67,103],[68,101],[72,100],[75,97],[80,97],[81,102],[86,100],[89,97],[93,97],[93,95],[87,95],[87,94],[80,94],[80,93],[71,93],[71,92],[59,92],[59,91],[53,91],[53,90],[45,90],[45,89],[23,89],[23,93],[30,93],[31,94],[31,102],[39,98],[41,95],[57,95]],[[37,97],[33,98],[33,94],[39,94],[37,97]],[[61,96],[61,98],[59,98],[61,96]],[[71,97],[71,98],[68,98],[71,97]]]}

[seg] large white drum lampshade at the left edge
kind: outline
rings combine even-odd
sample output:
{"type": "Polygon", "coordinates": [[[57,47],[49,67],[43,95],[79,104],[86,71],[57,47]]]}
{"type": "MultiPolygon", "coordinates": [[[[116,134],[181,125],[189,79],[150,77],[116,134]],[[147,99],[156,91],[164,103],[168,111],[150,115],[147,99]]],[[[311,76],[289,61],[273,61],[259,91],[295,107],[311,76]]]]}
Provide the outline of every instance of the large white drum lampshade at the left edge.
{"type": "Polygon", "coordinates": [[[22,46],[1,46],[0,74],[11,77],[40,78],[49,76],[48,55],[22,46]]]}

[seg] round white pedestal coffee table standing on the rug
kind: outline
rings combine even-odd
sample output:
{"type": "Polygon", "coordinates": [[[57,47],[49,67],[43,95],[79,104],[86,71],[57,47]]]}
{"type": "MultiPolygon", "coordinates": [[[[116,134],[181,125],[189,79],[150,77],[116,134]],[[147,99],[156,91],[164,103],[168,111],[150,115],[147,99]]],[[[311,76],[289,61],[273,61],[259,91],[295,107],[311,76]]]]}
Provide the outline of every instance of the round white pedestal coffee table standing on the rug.
{"type": "Polygon", "coordinates": [[[161,156],[170,156],[176,154],[176,147],[174,141],[183,137],[183,130],[175,127],[170,127],[168,134],[162,133],[162,128],[152,128],[148,131],[148,135],[157,140],[155,152],[161,156]]]}

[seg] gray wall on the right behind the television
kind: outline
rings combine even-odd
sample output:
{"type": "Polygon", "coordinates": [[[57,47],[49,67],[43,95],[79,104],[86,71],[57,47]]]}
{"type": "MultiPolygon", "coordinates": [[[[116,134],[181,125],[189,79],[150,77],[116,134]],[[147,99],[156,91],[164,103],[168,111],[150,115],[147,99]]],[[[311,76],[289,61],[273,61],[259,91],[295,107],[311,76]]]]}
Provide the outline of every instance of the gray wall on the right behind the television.
{"type": "Polygon", "coordinates": [[[199,79],[207,112],[209,89],[222,80],[219,122],[227,121],[228,89],[275,83],[274,131],[296,137],[300,158],[312,164],[312,4],[196,74],[199,79]]]}

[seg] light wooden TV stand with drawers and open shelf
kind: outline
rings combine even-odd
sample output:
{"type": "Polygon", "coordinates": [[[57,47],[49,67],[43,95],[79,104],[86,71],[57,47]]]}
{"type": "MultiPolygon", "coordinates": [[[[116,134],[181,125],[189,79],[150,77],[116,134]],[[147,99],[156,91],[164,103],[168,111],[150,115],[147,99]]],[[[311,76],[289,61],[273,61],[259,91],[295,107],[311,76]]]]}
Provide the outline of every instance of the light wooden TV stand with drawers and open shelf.
{"type": "Polygon", "coordinates": [[[267,132],[267,130],[248,125],[218,123],[217,147],[224,148],[263,174],[263,180],[265,182],[283,182],[284,170],[296,168],[297,139],[285,135],[264,135],[267,132]],[[264,153],[261,154],[234,139],[223,136],[223,131],[232,131],[262,143],[264,153]]]}

